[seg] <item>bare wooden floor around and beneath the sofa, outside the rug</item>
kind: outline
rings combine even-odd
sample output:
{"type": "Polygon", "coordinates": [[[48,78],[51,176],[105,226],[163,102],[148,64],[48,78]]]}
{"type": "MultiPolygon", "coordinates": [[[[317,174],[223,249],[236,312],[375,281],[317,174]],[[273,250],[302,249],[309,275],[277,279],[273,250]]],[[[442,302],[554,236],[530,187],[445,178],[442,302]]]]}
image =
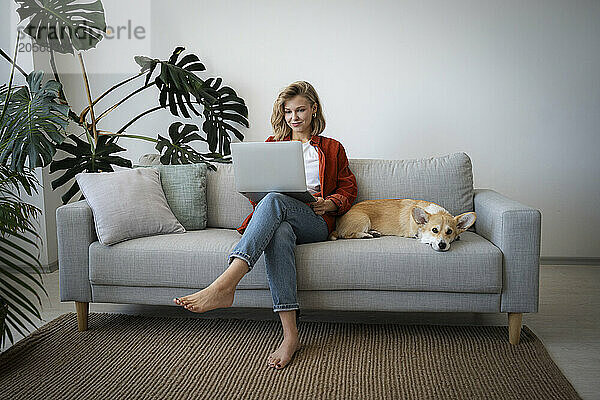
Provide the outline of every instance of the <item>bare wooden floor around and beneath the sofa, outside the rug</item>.
{"type": "MultiPolygon", "coordinates": [[[[66,312],[73,302],[61,303],[58,271],[44,276],[50,299],[44,299],[41,326],[66,312]]],[[[90,312],[140,315],[189,315],[169,306],[90,304],[90,312]]],[[[273,319],[271,310],[214,310],[203,317],[273,319]]],[[[434,325],[507,325],[506,314],[474,313],[372,313],[304,311],[305,321],[395,322],[434,325]]],[[[547,266],[540,270],[540,305],[536,314],[524,314],[527,325],[584,399],[600,399],[600,266],[547,266]]],[[[73,329],[76,329],[74,326],[73,329]]],[[[17,340],[19,340],[17,338],[17,340]]],[[[302,339],[302,338],[301,338],[302,339]]],[[[5,348],[9,347],[8,343],[5,348]]],[[[4,350],[4,349],[3,349],[4,350]]],[[[265,355],[266,356],[266,355],[265,355]]]]}

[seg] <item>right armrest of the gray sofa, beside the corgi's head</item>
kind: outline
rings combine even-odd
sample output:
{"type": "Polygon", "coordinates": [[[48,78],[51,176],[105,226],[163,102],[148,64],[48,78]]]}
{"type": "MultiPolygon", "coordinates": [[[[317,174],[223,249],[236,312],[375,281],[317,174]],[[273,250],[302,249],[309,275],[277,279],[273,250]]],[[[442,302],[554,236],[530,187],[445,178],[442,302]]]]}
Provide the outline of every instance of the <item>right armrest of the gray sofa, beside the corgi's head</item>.
{"type": "Polygon", "coordinates": [[[539,210],[489,189],[475,190],[475,231],[503,254],[501,312],[537,312],[539,301],[539,210]]]}

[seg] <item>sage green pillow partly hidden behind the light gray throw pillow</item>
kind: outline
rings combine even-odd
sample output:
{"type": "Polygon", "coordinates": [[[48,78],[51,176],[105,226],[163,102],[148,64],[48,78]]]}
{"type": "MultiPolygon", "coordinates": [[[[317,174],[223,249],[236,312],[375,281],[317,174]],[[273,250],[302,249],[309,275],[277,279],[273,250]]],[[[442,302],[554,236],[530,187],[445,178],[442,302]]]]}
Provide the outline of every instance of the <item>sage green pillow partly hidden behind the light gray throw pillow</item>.
{"type": "Polygon", "coordinates": [[[167,203],[186,230],[206,228],[206,164],[135,165],[155,168],[167,203]]]}

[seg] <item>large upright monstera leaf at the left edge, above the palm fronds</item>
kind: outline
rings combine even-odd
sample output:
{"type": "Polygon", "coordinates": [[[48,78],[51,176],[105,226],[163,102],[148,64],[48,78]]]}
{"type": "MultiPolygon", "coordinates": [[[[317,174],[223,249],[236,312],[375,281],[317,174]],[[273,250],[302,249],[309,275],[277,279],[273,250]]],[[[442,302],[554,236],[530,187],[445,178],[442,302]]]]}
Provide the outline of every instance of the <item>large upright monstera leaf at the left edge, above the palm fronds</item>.
{"type": "MultiPolygon", "coordinates": [[[[13,171],[23,172],[26,159],[29,168],[45,167],[56,153],[56,145],[65,138],[69,107],[60,104],[60,83],[50,80],[42,85],[44,73],[34,71],[27,76],[27,86],[14,88],[2,121],[0,163],[13,171]]],[[[0,88],[0,107],[4,107],[8,88],[0,88]]]]}

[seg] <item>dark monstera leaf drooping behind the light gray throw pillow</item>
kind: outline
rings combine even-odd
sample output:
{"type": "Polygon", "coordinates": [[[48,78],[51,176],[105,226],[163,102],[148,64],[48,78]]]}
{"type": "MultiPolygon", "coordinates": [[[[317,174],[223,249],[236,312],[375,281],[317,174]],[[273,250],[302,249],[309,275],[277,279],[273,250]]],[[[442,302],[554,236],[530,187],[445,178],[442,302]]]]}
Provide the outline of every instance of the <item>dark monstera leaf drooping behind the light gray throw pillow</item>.
{"type": "MultiPolygon", "coordinates": [[[[113,153],[126,149],[113,143],[108,135],[98,136],[98,143],[95,147],[75,135],[69,135],[68,138],[74,144],[65,141],[58,145],[57,149],[69,153],[73,157],[52,161],[50,164],[50,173],[65,170],[64,174],[51,182],[53,189],[68,183],[80,172],[112,172],[113,165],[132,167],[130,160],[113,155],[113,153]]],[[[78,192],[79,185],[77,185],[77,181],[73,181],[71,188],[62,196],[63,204],[67,204],[78,192]]]]}

